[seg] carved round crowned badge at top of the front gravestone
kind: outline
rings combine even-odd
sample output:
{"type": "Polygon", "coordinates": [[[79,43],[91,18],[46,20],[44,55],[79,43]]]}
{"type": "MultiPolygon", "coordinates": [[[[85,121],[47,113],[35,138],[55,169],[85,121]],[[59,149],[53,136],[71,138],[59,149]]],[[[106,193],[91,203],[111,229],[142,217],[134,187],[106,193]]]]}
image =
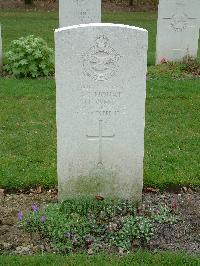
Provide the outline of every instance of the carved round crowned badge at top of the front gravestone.
{"type": "Polygon", "coordinates": [[[109,46],[109,39],[106,36],[98,36],[95,45],[84,55],[84,71],[95,81],[106,81],[117,72],[120,57],[109,46]]]}

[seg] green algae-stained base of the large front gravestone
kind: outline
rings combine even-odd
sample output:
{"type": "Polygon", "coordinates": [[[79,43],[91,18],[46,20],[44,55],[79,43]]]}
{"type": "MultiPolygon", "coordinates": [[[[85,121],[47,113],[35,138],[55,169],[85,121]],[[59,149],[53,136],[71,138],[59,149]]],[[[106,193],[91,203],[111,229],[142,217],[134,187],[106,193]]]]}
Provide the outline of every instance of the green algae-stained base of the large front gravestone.
{"type": "Polygon", "coordinates": [[[107,170],[103,166],[94,166],[87,176],[72,176],[59,181],[59,199],[102,196],[104,198],[130,199],[140,202],[143,183],[141,175],[136,180],[120,178],[118,171],[107,170]]]}

